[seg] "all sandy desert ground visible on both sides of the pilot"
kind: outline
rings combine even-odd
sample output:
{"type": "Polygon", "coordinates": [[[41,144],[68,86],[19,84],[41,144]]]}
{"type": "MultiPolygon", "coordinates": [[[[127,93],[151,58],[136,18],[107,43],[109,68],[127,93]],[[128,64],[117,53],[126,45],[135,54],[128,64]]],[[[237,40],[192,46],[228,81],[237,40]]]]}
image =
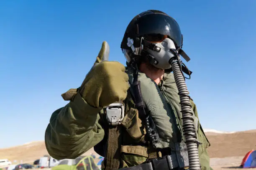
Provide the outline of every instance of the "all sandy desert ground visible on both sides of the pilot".
{"type": "MultiPolygon", "coordinates": [[[[249,150],[256,150],[256,130],[241,131],[235,133],[220,133],[205,130],[211,146],[208,148],[210,164],[214,170],[238,169],[244,155],[249,150]]],[[[83,155],[97,153],[92,149],[83,155]]],[[[43,155],[49,155],[44,141],[34,141],[11,148],[0,149],[0,159],[16,160],[17,163],[33,163],[43,155]]],[[[256,168],[254,168],[256,169],[256,168]]]]}

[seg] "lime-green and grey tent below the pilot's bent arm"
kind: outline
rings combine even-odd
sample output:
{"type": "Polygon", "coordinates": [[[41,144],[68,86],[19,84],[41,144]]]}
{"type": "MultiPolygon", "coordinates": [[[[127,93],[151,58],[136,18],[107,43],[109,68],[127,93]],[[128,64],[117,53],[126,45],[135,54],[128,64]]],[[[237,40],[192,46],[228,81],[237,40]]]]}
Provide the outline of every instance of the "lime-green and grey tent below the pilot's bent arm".
{"type": "Polygon", "coordinates": [[[92,156],[79,156],[76,159],[64,159],[51,170],[100,170],[92,156]]]}

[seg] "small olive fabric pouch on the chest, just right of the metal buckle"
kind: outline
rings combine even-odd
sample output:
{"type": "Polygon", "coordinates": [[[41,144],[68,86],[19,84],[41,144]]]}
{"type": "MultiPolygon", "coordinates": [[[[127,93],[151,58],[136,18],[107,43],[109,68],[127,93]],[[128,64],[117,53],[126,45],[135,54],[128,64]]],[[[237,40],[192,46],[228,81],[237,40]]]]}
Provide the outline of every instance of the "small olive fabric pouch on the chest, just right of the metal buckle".
{"type": "Polygon", "coordinates": [[[130,108],[123,118],[121,124],[125,127],[131,138],[139,140],[144,135],[141,120],[138,117],[138,110],[130,108]]]}

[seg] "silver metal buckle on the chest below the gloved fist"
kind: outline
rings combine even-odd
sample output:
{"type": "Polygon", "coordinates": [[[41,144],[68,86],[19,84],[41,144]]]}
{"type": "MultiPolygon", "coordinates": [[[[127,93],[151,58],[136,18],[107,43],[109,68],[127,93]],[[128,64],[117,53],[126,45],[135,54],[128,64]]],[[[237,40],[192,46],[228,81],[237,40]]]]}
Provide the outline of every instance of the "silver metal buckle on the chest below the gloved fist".
{"type": "Polygon", "coordinates": [[[112,103],[106,107],[106,115],[109,125],[120,125],[124,117],[124,106],[122,103],[112,103]]]}

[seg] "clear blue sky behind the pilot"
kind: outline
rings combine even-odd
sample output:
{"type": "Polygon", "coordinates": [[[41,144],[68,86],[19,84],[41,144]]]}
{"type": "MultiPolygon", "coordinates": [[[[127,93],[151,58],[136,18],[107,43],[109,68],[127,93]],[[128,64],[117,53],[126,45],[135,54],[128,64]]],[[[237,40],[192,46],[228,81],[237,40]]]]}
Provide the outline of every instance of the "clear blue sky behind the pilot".
{"type": "Polygon", "coordinates": [[[125,64],[125,28],[149,9],[181,27],[202,126],[255,129],[255,0],[1,1],[0,148],[44,140],[51,113],[67,103],[61,93],[81,85],[102,41],[125,64]]]}

